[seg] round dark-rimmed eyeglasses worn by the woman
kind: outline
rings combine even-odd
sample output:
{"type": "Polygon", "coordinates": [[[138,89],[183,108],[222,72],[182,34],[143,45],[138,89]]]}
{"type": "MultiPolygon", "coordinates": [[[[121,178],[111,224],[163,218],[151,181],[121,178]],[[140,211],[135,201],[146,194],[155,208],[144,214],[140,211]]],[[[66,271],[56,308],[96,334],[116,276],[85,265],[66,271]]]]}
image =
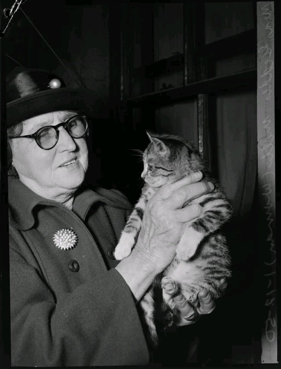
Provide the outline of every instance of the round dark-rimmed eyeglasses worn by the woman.
{"type": "Polygon", "coordinates": [[[46,125],[45,127],[39,128],[38,131],[32,135],[11,137],[11,138],[35,138],[35,141],[41,149],[50,150],[52,149],[59,139],[59,127],[64,127],[66,132],[72,138],[82,138],[87,132],[88,122],[83,115],[75,115],[69,118],[63,123],[57,125],[46,125]]]}

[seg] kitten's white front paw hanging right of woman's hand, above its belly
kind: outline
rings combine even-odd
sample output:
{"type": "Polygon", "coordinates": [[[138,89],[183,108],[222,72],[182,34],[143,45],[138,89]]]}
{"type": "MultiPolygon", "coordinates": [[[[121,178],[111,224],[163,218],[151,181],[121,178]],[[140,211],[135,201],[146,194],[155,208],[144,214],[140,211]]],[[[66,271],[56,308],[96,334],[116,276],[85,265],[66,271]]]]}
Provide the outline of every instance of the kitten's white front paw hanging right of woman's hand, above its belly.
{"type": "Polygon", "coordinates": [[[186,228],[177,247],[177,257],[185,261],[192,258],[203,237],[201,233],[196,232],[193,228],[186,228]]]}

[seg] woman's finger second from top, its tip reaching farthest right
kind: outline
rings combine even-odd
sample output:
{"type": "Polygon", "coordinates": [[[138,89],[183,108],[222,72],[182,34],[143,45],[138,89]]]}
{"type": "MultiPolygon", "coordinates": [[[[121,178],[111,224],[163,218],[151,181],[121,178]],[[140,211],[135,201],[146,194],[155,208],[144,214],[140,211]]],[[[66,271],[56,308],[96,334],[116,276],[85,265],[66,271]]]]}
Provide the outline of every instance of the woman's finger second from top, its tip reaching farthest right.
{"type": "Polygon", "coordinates": [[[212,182],[192,183],[182,186],[165,199],[166,207],[172,210],[181,208],[187,201],[196,199],[213,191],[215,186],[212,182]]]}

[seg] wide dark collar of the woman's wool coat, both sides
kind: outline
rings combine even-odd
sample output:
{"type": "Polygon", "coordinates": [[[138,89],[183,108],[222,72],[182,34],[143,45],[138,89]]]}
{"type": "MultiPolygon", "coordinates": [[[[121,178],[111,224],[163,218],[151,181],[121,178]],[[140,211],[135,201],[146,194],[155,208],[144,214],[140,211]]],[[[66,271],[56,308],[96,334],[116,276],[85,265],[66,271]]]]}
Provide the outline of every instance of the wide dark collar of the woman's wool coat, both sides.
{"type": "MultiPolygon", "coordinates": [[[[33,227],[35,221],[33,211],[37,205],[56,206],[65,209],[58,202],[37,195],[14,177],[8,178],[8,199],[9,223],[21,231],[26,231],[33,227]]],[[[96,189],[95,192],[89,188],[81,188],[73,202],[73,213],[84,221],[90,207],[99,201],[109,206],[131,209],[130,203],[119,191],[96,189]]]]}

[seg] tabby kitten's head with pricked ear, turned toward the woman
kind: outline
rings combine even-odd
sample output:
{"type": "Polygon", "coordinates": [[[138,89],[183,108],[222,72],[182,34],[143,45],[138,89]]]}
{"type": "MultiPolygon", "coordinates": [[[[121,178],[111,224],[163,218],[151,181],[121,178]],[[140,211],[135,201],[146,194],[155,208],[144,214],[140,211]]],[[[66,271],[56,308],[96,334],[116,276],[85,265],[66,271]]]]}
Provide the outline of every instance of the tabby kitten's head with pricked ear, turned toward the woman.
{"type": "Polygon", "coordinates": [[[188,150],[183,145],[170,146],[158,138],[150,139],[151,143],[144,151],[144,170],[141,173],[147,184],[160,187],[175,182],[189,172],[188,150]]]}

